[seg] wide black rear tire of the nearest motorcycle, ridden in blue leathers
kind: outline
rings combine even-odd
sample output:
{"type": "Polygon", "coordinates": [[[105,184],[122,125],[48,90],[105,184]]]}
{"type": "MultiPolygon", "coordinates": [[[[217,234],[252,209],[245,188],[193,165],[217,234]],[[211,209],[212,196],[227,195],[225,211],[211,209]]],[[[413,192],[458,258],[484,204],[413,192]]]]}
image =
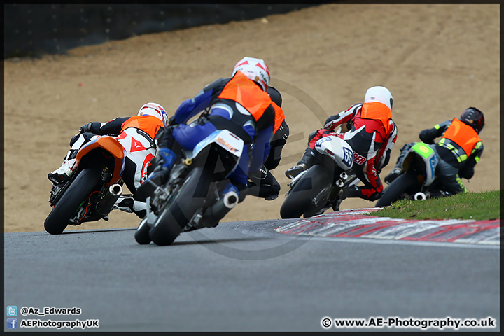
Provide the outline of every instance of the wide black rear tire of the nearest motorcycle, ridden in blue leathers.
{"type": "Polygon", "coordinates": [[[211,173],[207,172],[207,169],[196,167],[189,172],[179,193],[174,195],[174,199],[162,210],[149,231],[149,237],[154,244],[170,245],[176,237],[179,237],[183,228],[207,198],[210,183],[211,173]]]}

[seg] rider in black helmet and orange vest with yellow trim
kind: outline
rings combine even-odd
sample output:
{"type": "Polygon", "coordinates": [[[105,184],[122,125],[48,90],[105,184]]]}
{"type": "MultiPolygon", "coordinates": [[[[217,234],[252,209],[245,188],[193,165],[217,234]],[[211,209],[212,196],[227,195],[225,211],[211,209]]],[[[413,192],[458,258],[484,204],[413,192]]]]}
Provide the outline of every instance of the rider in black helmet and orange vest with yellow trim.
{"type": "MultiPolygon", "coordinates": [[[[435,138],[441,137],[436,146],[431,146],[437,152],[440,161],[437,163],[435,174],[443,190],[430,192],[429,197],[441,197],[467,192],[461,178],[470,179],[474,176],[474,167],[483,153],[483,143],[479,132],[484,127],[484,115],[475,107],[465,109],[460,118],[446,120],[433,128],[422,130],[419,134],[421,141],[435,144],[435,138]]],[[[390,184],[402,174],[402,160],[414,143],[405,144],[397,163],[385,177],[390,184]]]]}

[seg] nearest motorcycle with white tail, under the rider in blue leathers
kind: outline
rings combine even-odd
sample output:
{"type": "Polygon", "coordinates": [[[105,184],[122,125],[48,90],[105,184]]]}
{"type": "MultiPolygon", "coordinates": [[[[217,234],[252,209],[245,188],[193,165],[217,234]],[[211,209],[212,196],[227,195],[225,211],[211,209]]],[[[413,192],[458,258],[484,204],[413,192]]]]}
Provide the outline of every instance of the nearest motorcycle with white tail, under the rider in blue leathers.
{"type": "Polygon", "coordinates": [[[193,151],[183,151],[167,183],[147,197],[147,214],[134,235],[137,242],[169,245],[181,232],[215,227],[238,203],[235,191],[223,195],[223,190],[243,148],[235,134],[216,130],[193,151]]]}

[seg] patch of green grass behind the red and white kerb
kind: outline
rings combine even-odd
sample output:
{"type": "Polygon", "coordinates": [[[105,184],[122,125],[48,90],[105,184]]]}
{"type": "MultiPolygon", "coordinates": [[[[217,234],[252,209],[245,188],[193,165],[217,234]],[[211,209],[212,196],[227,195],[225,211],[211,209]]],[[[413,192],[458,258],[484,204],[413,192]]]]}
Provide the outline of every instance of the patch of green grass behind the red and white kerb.
{"type": "Polygon", "coordinates": [[[499,190],[460,193],[425,201],[399,200],[372,216],[404,219],[475,219],[500,218],[499,190]]]}

